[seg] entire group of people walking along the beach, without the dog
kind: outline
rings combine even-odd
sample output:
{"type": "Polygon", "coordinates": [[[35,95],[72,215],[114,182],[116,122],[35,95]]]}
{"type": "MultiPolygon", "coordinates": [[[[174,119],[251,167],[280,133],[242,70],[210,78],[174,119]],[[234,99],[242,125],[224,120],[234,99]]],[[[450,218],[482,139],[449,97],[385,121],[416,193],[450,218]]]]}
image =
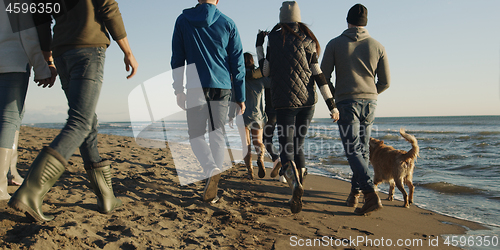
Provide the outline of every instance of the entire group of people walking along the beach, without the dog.
{"type": "MultiPolygon", "coordinates": [[[[279,23],[270,32],[257,34],[256,66],[252,54],[243,52],[236,24],[218,10],[218,3],[219,0],[198,0],[196,7],[185,9],[176,20],[172,37],[173,88],[177,104],[186,110],[191,148],[206,176],[202,199],[218,200],[226,146],[224,126],[229,115],[243,128],[248,177],[254,178],[250,156],[253,144],[258,155],[258,176],[266,175],[267,151],[273,161],[271,177],[279,174],[286,179],[291,188],[290,209],[299,213],[307,173],[304,142],[318,102],[318,88],[332,120],[338,121],[339,130],[343,131],[340,137],[353,171],[347,205],[356,207],[363,193],[365,203],[356,208],[356,214],[380,209],[380,199],[368,175],[368,140],[377,96],[389,87],[390,78],[385,49],[365,28],[366,7],[356,4],[349,10],[348,29],[328,43],[320,64],[320,44],[301,22],[298,3],[283,2],[279,23]],[[190,64],[196,66],[195,75],[184,72],[190,64]],[[331,82],[334,71],[335,84],[331,82]],[[234,112],[230,112],[231,102],[236,107],[234,112]],[[275,129],[278,150],[272,140],[275,129]]],[[[97,149],[95,108],[109,35],[123,51],[127,71],[132,70],[128,78],[135,74],[138,64],[115,0],[84,0],[63,7],[65,12],[61,14],[34,16],[37,28],[32,25],[19,31],[21,36],[13,35],[9,22],[3,22],[8,19],[7,14],[0,14],[1,58],[16,59],[15,68],[0,61],[0,199],[10,198],[9,206],[36,221],[53,219],[41,210],[43,197],[62,175],[77,148],[97,195],[98,210],[109,213],[122,205],[111,186],[110,162],[101,159],[97,149]],[[51,18],[56,22],[53,40],[51,18]],[[16,39],[23,37],[32,42],[31,47],[20,46],[24,41],[16,39]],[[11,49],[5,49],[7,45],[11,49]],[[4,179],[9,169],[12,175],[17,173],[11,162],[30,67],[34,68],[35,81],[43,87],[51,87],[59,75],[69,117],[60,134],[31,164],[24,181],[20,177],[11,181],[22,185],[10,197],[4,179]],[[7,90],[15,94],[4,94],[7,90]]]]}

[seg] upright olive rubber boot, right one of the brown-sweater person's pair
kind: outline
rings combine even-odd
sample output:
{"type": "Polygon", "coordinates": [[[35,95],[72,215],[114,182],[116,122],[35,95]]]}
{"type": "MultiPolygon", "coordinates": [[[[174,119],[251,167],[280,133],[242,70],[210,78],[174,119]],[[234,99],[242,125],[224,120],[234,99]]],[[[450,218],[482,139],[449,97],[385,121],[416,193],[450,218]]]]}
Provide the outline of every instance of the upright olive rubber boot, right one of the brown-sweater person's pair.
{"type": "Polygon", "coordinates": [[[115,197],[111,184],[111,163],[102,161],[85,165],[90,186],[97,195],[97,210],[108,214],[122,205],[122,201],[115,197]]]}

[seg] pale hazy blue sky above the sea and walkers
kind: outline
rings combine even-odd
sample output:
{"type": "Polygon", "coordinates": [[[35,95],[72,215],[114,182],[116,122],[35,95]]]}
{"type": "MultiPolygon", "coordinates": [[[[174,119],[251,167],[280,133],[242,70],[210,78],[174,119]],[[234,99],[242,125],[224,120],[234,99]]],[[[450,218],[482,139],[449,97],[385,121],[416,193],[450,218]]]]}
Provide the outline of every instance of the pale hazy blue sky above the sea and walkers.
{"type": "MultiPolygon", "coordinates": [[[[177,16],[196,0],[118,0],[128,38],[140,64],[127,80],[116,43],[107,51],[97,107],[100,121],[129,121],[130,92],[170,71],[171,37],[177,16]]],[[[298,0],[302,22],[324,49],[346,28],[349,8],[359,1],[298,0]]],[[[218,8],[239,29],[244,50],[255,53],[259,29],[279,20],[279,0],[220,0],[218,8]]],[[[387,51],[391,87],[379,96],[377,116],[500,115],[500,1],[367,0],[367,29],[387,51]]],[[[322,55],[322,54],[321,54],[322,55]]],[[[320,57],[321,60],[321,57],[320,57]]],[[[171,83],[165,98],[173,98],[171,83]]],[[[165,109],[177,110],[175,105],[165,109]]],[[[31,83],[24,123],[63,122],[67,104],[60,83],[31,83]]],[[[322,100],[315,117],[327,117],[322,100]]]]}

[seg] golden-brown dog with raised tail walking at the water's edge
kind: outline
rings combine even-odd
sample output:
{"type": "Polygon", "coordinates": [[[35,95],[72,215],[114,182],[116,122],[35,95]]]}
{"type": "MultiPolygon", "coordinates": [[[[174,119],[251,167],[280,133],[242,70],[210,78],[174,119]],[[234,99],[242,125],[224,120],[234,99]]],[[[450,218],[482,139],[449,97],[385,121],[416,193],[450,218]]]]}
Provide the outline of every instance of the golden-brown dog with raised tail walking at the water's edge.
{"type": "Polygon", "coordinates": [[[406,134],[403,128],[399,130],[399,133],[411,144],[412,149],[408,152],[397,150],[385,145],[384,141],[370,138],[370,162],[375,172],[374,185],[389,182],[390,189],[387,199],[390,201],[394,197],[394,186],[397,186],[399,191],[403,193],[404,206],[408,208],[413,203],[413,191],[415,190],[413,169],[415,168],[415,160],[419,156],[419,147],[415,136],[406,134]],[[409,198],[403,183],[410,189],[409,198]]]}

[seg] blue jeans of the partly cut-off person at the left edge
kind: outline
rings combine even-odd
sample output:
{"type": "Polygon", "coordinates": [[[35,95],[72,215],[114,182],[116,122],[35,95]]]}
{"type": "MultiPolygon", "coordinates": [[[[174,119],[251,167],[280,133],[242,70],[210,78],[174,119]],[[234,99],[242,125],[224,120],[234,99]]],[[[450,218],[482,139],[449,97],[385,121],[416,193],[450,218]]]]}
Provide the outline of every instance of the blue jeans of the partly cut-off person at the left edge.
{"type": "Polygon", "coordinates": [[[24,113],[30,71],[0,73],[0,148],[12,148],[24,113]]]}

